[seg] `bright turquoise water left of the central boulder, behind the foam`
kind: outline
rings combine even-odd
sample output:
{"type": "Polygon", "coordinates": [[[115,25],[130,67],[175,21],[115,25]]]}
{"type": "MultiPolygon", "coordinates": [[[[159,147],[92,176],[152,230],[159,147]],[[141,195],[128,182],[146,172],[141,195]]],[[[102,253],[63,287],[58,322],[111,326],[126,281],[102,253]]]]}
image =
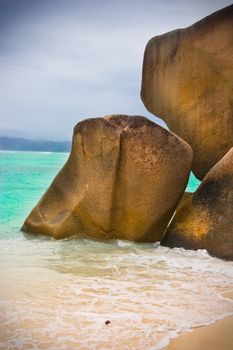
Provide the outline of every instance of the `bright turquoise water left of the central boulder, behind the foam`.
{"type": "Polygon", "coordinates": [[[67,158],[68,153],[0,153],[0,217],[7,235],[22,226],[67,158]]]}

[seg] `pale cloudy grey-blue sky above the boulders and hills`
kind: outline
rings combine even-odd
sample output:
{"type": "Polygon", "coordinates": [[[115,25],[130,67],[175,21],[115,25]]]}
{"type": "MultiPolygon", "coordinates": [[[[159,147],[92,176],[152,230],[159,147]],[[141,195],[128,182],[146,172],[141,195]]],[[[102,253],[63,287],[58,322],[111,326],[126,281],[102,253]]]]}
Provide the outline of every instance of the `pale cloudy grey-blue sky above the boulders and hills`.
{"type": "Polygon", "coordinates": [[[227,0],[0,0],[0,134],[70,140],[82,119],[151,115],[140,99],[148,40],[227,0]]]}

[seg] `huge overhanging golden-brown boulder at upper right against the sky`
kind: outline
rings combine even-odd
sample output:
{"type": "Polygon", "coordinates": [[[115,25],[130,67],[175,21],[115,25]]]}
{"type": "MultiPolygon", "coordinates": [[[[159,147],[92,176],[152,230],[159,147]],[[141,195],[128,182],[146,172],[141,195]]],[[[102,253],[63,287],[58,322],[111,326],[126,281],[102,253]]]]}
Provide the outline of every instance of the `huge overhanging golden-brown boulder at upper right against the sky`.
{"type": "Polygon", "coordinates": [[[193,148],[199,179],[233,146],[233,5],[152,38],[145,50],[146,108],[193,148]]]}

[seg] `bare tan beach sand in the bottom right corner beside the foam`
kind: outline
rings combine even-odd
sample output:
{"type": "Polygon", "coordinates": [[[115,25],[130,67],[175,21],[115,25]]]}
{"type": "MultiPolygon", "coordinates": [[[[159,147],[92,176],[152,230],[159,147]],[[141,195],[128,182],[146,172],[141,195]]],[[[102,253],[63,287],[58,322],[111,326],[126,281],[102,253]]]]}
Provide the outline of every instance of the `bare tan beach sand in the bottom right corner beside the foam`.
{"type": "MultiPolygon", "coordinates": [[[[233,290],[221,294],[233,300],[233,290]]],[[[233,313],[214,323],[181,332],[163,350],[232,350],[233,313]]]]}

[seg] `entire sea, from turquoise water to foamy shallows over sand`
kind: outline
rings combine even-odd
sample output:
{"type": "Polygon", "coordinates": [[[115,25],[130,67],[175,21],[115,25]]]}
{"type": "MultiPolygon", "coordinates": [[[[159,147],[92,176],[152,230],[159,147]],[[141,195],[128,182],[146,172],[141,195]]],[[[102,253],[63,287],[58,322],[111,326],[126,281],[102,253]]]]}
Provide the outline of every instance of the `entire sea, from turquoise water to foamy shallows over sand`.
{"type": "Polygon", "coordinates": [[[158,350],[233,315],[233,262],[205,250],[25,236],[67,158],[0,152],[0,349],[158,350]]]}

